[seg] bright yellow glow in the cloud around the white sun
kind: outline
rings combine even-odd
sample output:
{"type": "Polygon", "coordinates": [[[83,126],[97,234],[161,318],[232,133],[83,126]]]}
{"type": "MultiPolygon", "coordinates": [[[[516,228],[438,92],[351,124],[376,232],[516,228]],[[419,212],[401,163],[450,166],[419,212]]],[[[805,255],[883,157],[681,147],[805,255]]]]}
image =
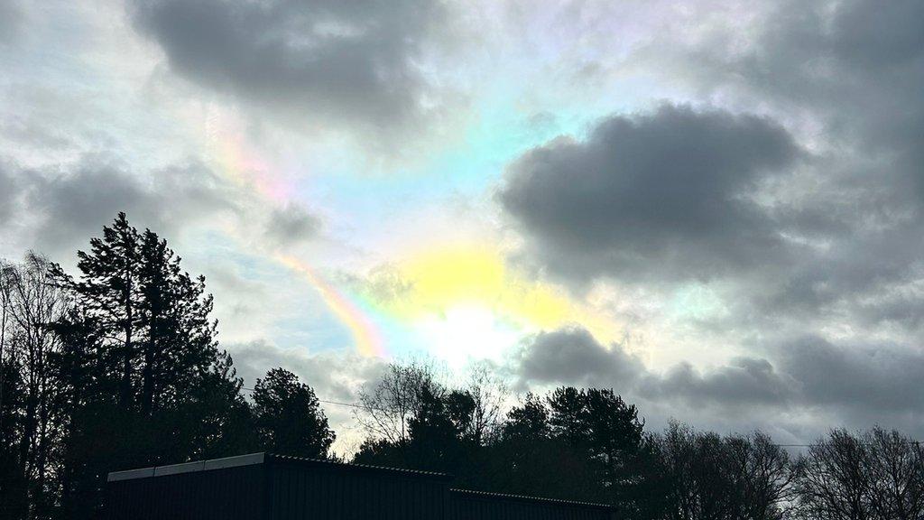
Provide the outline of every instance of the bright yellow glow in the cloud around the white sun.
{"type": "Polygon", "coordinates": [[[423,333],[445,357],[491,357],[524,334],[579,324],[615,339],[612,321],[554,286],[507,266],[491,246],[415,255],[373,273],[367,295],[382,313],[423,333]]]}

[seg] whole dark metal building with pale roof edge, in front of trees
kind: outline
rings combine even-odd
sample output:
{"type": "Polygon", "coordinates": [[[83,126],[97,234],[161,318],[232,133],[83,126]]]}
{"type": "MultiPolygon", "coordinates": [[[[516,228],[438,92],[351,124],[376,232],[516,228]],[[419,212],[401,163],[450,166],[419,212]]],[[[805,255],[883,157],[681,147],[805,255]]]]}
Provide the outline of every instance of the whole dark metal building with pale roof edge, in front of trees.
{"type": "Polygon", "coordinates": [[[452,477],[270,453],[110,473],[110,520],[611,520],[608,506],[450,489],[452,477]]]}

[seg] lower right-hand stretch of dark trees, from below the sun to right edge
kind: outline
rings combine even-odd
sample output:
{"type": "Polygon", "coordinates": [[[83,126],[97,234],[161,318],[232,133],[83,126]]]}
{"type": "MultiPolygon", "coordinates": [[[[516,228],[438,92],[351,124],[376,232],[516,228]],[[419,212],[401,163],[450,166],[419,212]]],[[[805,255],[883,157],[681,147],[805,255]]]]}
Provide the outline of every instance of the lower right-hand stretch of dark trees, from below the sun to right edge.
{"type": "MultiPolygon", "coordinates": [[[[485,384],[487,383],[487,384],[485,384]]],[[[875,427],[832,430],[791,455],[767,435],[720,436],[677,423],[649,433],[613,390],[528,394],[462,389],[426,365],[391,366],[361,395],[374,435],[355,462],[442,471],[457,485],[614,504],[621,518],[886,520],[924,518],[924,452],[875,427]]]]}

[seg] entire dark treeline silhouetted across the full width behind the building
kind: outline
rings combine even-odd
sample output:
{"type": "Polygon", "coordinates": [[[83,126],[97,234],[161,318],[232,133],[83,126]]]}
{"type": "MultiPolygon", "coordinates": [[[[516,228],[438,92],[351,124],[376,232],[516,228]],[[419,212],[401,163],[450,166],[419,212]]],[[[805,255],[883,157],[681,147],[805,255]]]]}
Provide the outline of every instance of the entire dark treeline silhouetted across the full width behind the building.
{"type": "MultiPolygon", "coordinates": [[[[78,253],[0,265],[0,518],[95,518],[106,473],[269,451],[332,458],[334,432],[282,368],[242,389],[213,301],[166,242],[125,215],[78,253]]],[[[360,392],[352,462],[456,485],[614,504],[626,519],[924,518],[924,453],[894,431],[833,430],[791,454],[760,432],[646,431],[605,389],[509,407],[486,372],[447,385],[389,365],[360,392]]]]}

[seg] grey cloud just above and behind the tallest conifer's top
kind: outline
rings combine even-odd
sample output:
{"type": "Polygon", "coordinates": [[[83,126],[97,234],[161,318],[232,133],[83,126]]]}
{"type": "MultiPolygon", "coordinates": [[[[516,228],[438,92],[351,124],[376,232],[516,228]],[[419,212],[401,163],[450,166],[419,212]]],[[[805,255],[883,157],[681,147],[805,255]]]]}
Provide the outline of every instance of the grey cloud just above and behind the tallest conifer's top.
{"type": "Polygon", "coordinates": [[[71,251],[119,211],[127,212],[137,227],[172,235],[192,221],[234,208],[213,173],[198,163],[142,177],[118,163],[87,156],[55,168],[13,168],[10,179],[18,186],[19,210],[29,217],[18,221],[38,217],[33,243],[50,254],[71,251]]]}

